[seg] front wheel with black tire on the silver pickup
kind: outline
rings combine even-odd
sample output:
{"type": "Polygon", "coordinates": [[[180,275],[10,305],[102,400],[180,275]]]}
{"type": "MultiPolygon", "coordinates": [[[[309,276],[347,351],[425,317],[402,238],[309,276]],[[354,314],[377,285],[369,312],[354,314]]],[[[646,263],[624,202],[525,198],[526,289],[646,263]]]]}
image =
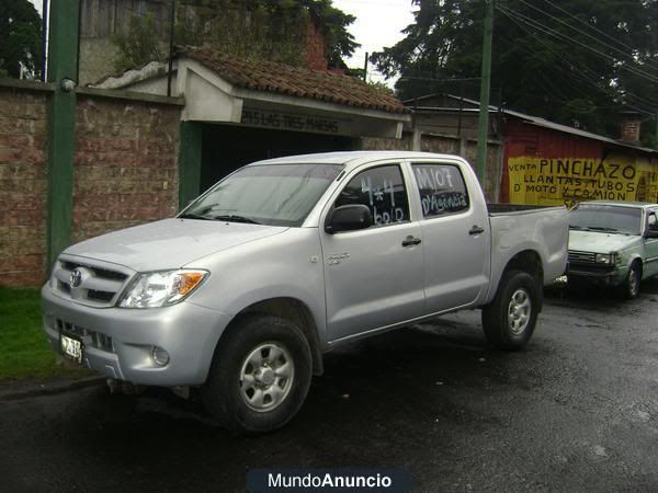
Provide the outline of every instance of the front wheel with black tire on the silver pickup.
{"type": "MultiPolygon", "coordinates": [[[[297,414],[310,387],[308,341],[288,321],[268,314],[242,317],[228,330],[215,349],[208,378],[201,389],[205,409],[234,433],[256,434],[282,427],[297,414]],[[271,362],[275,348],[282,355],[271,362]],[[251,364],[247,359],[250,355],[262,359],[262,366],[251,364]],[[286,363],[293,365],[292,375],[276,377],[275,367],[284,368],[286,363]],[[248,375],[243,377],[245,374],[248,375]],[[262,399],[257,399],[259,391],[262,399]]],[[[290,374],[290,367],[285,368],[290,374]]]]}

